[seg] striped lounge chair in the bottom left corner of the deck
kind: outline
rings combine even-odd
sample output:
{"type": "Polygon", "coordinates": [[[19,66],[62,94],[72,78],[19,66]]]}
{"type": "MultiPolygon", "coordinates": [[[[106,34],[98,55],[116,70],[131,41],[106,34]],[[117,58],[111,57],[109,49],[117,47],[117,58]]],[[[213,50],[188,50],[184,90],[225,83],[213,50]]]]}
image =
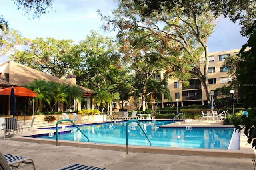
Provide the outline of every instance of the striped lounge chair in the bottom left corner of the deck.
{"type": "Polygon", "coordinates": [[[20,169],[29,165],[33,165],[34,170],[36,169],[31,158],[11,154],[2,155],[1,152],[0,155],[1,170],[20,169]]]}

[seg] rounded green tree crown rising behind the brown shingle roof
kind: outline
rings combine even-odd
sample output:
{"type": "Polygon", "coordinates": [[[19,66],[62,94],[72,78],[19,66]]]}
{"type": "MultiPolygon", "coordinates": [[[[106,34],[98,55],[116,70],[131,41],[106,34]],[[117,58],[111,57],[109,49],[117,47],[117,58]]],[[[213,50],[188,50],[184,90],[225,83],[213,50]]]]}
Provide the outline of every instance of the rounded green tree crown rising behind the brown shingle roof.
{"type": "Polygon", "coordinates": [[[36,38],[27,46],[27,50],[13,55],[14,61],[58,78],[71,74],[81,61],[73,40],[36,38]]]}

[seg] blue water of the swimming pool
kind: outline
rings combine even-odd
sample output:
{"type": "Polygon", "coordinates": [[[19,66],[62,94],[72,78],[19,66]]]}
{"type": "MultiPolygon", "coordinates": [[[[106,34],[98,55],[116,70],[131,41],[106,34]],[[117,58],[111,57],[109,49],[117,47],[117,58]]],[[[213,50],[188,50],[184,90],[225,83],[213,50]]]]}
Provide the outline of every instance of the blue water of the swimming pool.
{"type": "MultiPolygon", "coordinates": [[[[173,121],[140,121],[152,146],[178,148],[228,149],[234,127],[161,127],[173,121]]],[[[79,127],[93,143],[126,144],[126,121],[117,123],[100,123],[79,127]]],[[[128,124],[128,144],[150,146],[150,142],[136,122],[128,124]]],[[[88,142],[88,139],[70,126],[69,131],[58,134],[59,140],[88,142]]],[[[56,136],[39,138],[56,140],[56,136]]]]}

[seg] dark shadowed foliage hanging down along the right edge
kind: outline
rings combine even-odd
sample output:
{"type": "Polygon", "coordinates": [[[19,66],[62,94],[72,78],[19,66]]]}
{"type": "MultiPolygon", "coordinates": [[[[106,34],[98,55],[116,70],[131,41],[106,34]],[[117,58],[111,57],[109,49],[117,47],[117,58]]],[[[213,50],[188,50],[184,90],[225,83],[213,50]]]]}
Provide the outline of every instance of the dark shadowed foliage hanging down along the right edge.
{"type": "Polygon", "coordinates": [[[237,79],[240,82],[240,89],[244,91],[244,101],[246,107],[252,107],[248,111],[248,117],[243,116],[242,121],[235,123],[236,129],[244,129],[244,134],[248,137],[247,142],[256,149],[256,20],[246,34],[250,35],[248,43],[240,50],[242,61],[238,63],[240,69],[236,71],[237,79]],[[246,47],[250,50],[244,51],[246,47]]]}

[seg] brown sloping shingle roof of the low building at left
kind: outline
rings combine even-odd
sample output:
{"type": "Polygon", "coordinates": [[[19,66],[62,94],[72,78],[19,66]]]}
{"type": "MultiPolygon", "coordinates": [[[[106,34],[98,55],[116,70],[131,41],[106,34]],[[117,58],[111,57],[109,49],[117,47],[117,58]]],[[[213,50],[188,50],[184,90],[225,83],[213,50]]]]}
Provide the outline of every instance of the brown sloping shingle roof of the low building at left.
{"type": "MultiPolygon", "coordinates": [[[[56,83],[69,83],[66,80],[59,79],[52,75],[48,75],[41,71],[26,67],[25,65],[16,63],[14,61],[7,61],[0,65],[1,75],[0,75],[0,85],[1,86],[23,86],[34,81],[34,79],[42,79],[46,81],[54,81],[56,83]],[[8,66],[6,66],[8,65],[8,66]],[[2,67],[2,68],[1,68],[2,67]],[[5,71],[3,71],[3,69],[5,71]]],[[[93,95],[95,92],[91,89],[78,86],[82,89],[83,95],[93,95]]]]}

